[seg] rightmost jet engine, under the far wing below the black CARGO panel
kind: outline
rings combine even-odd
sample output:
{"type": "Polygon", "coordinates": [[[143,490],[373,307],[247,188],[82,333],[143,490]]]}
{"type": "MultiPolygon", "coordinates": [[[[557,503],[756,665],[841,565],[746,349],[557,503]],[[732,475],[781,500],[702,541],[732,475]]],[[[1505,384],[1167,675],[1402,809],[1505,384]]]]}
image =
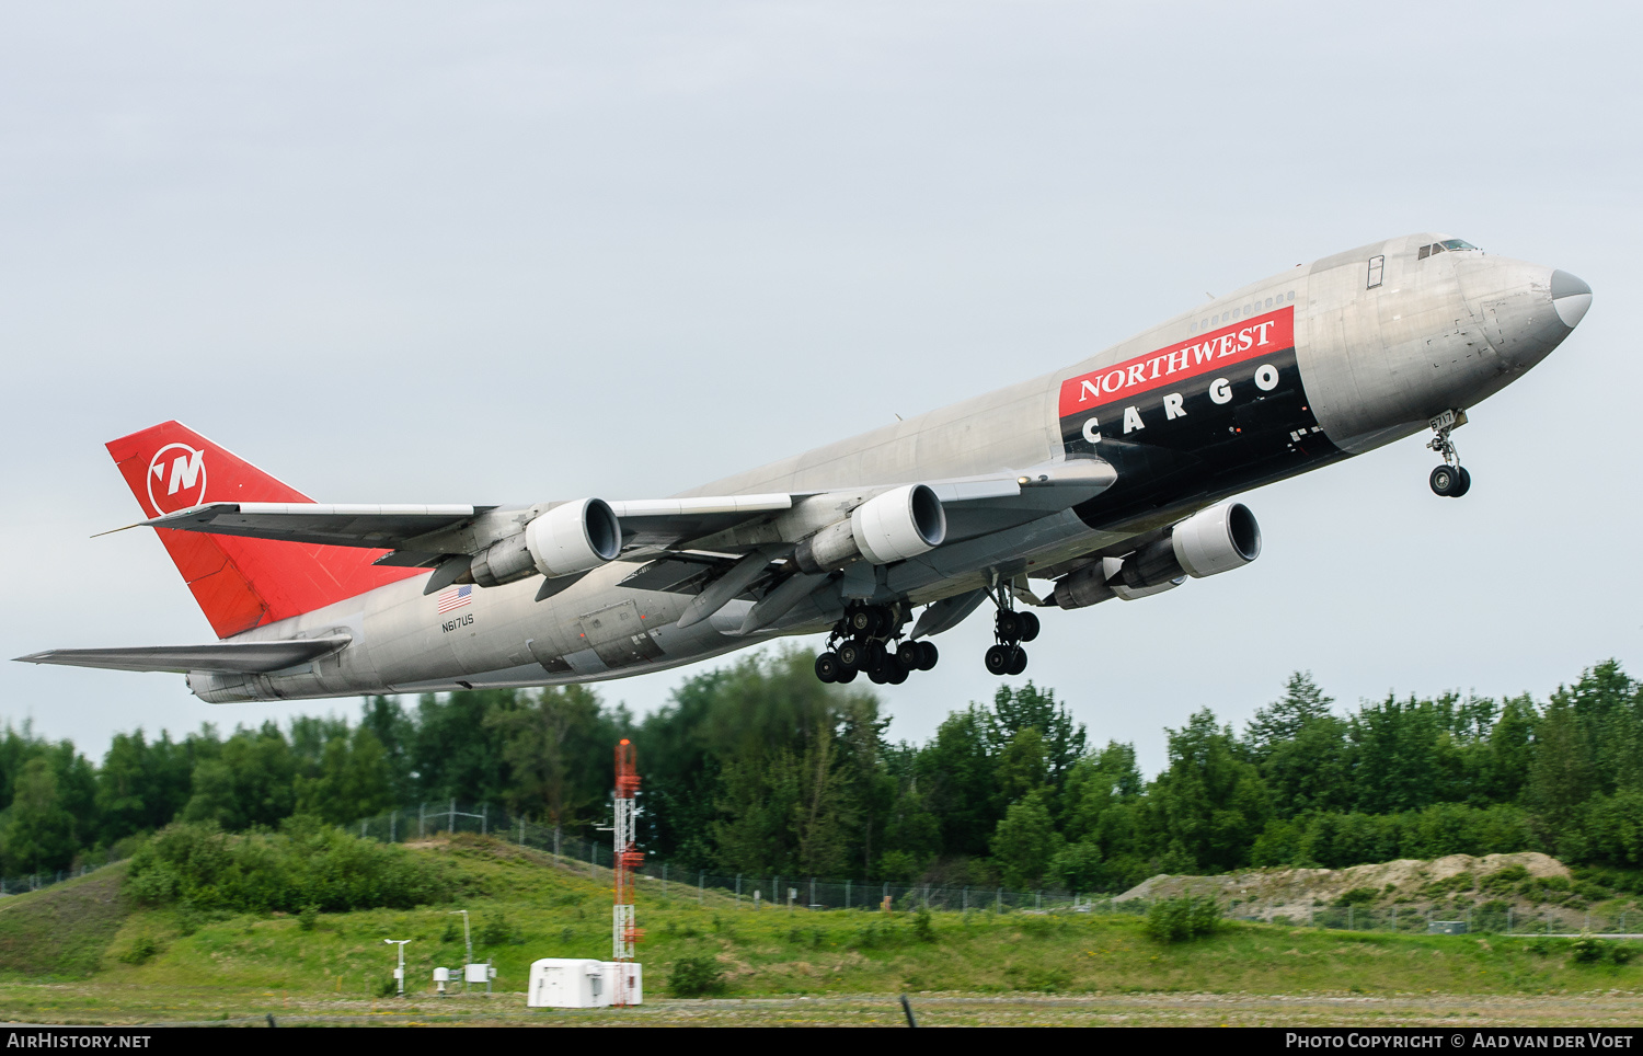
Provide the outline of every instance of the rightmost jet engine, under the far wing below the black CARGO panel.
{"type": "Polygon", "coordinates": [[[1078,609],[1107,598],[1134,601],[1186,581],[1242,568],[1260,557],[1260,524],[1242,503],[1221,503],[1181,521],[1135,553],[1102,558],[1056,581],[1052,599],[1078,609]]]}

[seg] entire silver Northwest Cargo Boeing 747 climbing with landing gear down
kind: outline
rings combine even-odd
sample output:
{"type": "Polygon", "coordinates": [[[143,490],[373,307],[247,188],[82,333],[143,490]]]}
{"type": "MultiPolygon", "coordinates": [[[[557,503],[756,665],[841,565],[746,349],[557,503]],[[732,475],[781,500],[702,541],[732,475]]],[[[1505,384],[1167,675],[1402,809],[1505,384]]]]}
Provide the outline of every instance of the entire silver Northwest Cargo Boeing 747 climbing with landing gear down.
{"type": "Polygon", "coordinates": [[[21,660],[235,703],[619,678],[826,632],[823,682],[900,683],[991,606],[986,667],[1019,675],[1033,609],[1254,562],[1250,488],[1429,430],[1431,489],[1466,494],[1454,430],[1590,302],[1567,271],[1393,238],[669,499],[315,503],[166,422],[108,452],[220,640],[21,660]]]}

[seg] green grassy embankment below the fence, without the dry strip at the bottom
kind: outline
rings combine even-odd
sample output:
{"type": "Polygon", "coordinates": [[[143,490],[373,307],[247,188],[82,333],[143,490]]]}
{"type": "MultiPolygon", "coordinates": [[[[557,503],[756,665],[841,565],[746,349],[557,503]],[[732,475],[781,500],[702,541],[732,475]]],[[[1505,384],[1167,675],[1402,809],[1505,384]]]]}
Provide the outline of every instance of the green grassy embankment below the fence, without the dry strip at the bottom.
{"type": "MultiPolygon", "coordinates": [[[[421,910],[296,916],[181,918],[118,898],[120,870],[0,902],[0,1018],[54,1022],[191,1020],[263,1012],[394,1008],[381,997],[394,948],[411,938],[407,984],[427,1008],[434,966],[463,961],[460,916],[475,954],[495,959],[496,1002],[522,1005],[537,957],[608,957],[605,870],[559,869],[534,851],[458,838],[422,849],[449,857],[481,892],[421,910]],[[455,923],[455,928],[449,925],[455,923]]],[[[743,903],[746,907],[746,902],[743,903]]],[[[976,995],[1556,995],[1636,990],[1643,962],[1577,964],[1569,943],[1500,936],[1408,936],[1227,925],[1162,946],[1135,916],[736,910],[693,888],[646,884],[639,921],[646,990],[667,997],[680,957],[711,956],[726,997],[976,995]],[[922,933],[923,931],[923,933],[922,933]]],[[[444,1005],[452,1013],[473,1005],[444,1005]]]]}

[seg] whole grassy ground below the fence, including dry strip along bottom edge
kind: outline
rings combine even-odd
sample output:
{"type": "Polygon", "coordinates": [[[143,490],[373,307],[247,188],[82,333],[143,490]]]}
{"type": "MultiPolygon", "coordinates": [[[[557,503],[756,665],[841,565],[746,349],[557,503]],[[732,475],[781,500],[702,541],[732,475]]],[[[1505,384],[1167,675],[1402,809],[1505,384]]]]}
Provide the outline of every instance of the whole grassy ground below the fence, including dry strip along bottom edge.
{"type": "MultiPolygon", "coordinates": [[[[932,1023],[1635,1023],[1643,964],[1577,964],[1558,939],[1405,936],[1234,923],[1162,946],[1137,916],[738,910],[711,892],[646,888],[639,959],[647,1005],[524,1010],[537,957],[608,957],[610,893],[585,867],[457,838],[422,847],[483,892],[422,910],[187,920],[135,910],[118,869],[0,902],[0,1020],[370,1023],[902,1025],[909,992],[932,1023]],[[435,966],[498,967],[491,997],[434,999],[435,966]],[[455,925],[455,926],[452,926],[455,925]],[[409,999],[383,997],[406,946],[409,999]],[[669,1000],[680,957],[713,957],[721,1000],[669,1000]],[[340,1017],[340,1018],[338,1018],[340,1017]]],[[[746,903],[743,903],[746,907],[746,903]]]]}

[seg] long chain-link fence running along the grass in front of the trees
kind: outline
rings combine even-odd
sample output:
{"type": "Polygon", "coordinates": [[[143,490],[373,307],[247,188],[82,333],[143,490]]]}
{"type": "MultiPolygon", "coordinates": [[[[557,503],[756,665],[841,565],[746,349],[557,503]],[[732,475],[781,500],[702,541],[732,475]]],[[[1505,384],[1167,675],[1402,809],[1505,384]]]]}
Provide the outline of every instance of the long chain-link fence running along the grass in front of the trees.
{"type": "MultiPolygon", "coordinates": [[[[449,833],[478,833],[547,852],[570,869],[610,880],[611,846],[537,824],[493,805],[465,805],[457,800],[419,803],[353,823],[353,833],[383,843],[416,843],[449,833]]],[[[932,884],[887,884],[831,880],[784,874],[723,874],[647,861],[639,870],[641,890],[679,900],[697,900],[738,910],[881,910],[905,911],[1020,911],[1020,913],[1147,913],[1152,898],[1119,898],[1068,890],[1012,890],[932,884]]],[[[1398,933],[1493,933],[1571,934],[1579,931],[1643,931],[1643,913],[1594,913],[1585,908],[1536,907],[1498,908],[1492,905],[1454,908],[1433,905],[1301,905],[1283,902],[1224,902],[1232,920],[1250,920],[1295,928],[1336,928],[1346,931],[1398,933]]]]}

